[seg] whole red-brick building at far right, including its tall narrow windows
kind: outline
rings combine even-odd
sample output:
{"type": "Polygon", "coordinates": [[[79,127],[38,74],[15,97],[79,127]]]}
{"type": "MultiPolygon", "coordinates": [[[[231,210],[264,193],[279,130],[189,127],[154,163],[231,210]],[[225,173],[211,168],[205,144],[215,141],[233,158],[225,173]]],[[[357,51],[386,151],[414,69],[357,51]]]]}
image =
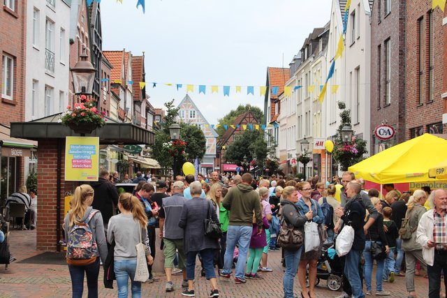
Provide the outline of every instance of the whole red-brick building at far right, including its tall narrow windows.
{"type": "Polygon", "coordinates": [[[432,10],[432,0],[406,2],[406,139],[446,131],[443,17],[441,9],[432,10]]]}

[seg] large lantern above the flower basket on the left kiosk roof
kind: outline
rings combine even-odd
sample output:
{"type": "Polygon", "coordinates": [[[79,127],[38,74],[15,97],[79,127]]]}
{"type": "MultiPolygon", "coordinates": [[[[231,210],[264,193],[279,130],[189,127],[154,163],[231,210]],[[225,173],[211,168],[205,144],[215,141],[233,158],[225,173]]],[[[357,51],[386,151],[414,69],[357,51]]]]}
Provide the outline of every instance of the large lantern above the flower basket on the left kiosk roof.
{"type": "Polygon", "coordinates": [[[93,90],[96,69],[87,58],[88,56],[84,47],[82,49],[82,54],[80,55],[80,61],[78,61],[73,68],[70,68],[76,95],[91,95],[91,91],[93,90]]]}

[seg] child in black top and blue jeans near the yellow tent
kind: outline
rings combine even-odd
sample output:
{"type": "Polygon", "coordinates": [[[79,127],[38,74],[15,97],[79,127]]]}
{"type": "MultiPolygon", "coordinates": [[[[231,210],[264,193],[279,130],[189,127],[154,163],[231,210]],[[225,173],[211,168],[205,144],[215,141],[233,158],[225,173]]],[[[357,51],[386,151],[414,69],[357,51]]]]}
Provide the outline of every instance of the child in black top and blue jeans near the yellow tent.
{"type": "Polygon", "coordinates": [[[385,266],[383,268],[383,281],[389,281],[390,283],[394,282],[394,252],[396,249],[396,239],[399,237],[399,233],[397,232],[397,225],[394,221],[390,220],[391,214],[393,214],[393,209],[390,207],[383,208],[383,225],[386,226],[388,232],[385,233],[386,240],[388,242],[388,246],[390,247],[390,251],[388,251],[388,255],[386,256],[385,266]]]}

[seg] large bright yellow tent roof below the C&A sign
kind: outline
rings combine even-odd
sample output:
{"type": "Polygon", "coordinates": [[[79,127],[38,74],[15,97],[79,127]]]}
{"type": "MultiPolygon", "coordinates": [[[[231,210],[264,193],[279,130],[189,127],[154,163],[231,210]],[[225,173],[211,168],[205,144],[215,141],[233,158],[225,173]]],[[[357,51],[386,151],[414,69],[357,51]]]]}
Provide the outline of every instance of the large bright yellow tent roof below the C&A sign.
{"type": "Polygon", "coordinates": [[[446,159],[447,140],[425,133],[388,148],[349,170],[357,178],[378,184],[433,180],[428,169],[446,159]]]}

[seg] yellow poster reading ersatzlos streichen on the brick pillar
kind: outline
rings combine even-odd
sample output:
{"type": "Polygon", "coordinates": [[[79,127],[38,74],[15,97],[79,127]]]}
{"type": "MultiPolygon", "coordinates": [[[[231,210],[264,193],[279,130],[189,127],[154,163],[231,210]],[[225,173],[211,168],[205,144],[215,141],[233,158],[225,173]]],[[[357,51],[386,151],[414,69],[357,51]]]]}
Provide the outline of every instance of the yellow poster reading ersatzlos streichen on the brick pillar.
{"type": "Polygon", "coordinates": [[[66,137],[65,180],[98,181],[99,137],[66,137]]]}

